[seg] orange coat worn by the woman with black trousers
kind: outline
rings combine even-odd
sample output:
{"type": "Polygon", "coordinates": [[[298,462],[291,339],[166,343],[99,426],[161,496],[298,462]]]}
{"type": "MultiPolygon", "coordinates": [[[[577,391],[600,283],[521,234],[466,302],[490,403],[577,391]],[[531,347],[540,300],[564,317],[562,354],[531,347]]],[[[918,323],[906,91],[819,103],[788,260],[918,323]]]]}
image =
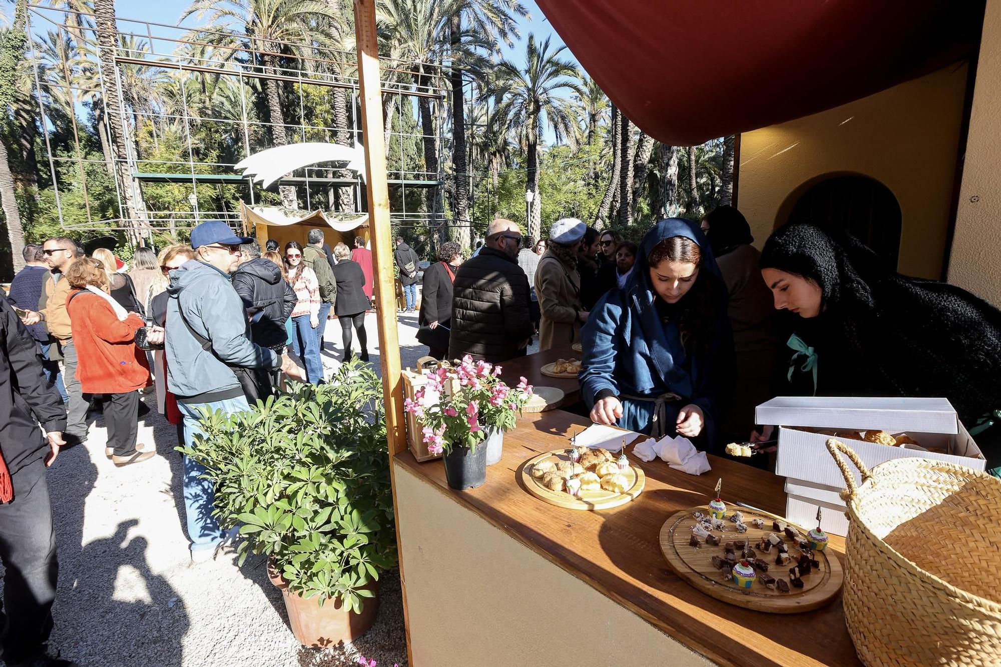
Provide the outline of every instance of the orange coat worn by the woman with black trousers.
{"type": "Polygon", "coordinates": [[[76,347],[76,379],[83,392],[125,394],[149,385],[146,354],[132,342],[136,329],[146,324],[142,317],[130,312],[119,321],[110,303],[80,289],[70,292],[66,308],[76,347]]]}

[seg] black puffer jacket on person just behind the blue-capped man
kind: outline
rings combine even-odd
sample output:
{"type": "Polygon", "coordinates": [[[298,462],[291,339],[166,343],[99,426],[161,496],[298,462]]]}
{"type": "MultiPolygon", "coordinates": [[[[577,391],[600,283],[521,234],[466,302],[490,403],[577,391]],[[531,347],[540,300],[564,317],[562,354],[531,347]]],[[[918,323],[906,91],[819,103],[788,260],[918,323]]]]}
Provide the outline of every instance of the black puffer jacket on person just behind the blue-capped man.
{"type": "Polygon", "coordinates": [[[250,340],[261,348],[283,345],[288,340],[285,320],[296,298],[277,264],[264,257],[240,264],[233,273],[233,289],[250,317],[250,340]]]}

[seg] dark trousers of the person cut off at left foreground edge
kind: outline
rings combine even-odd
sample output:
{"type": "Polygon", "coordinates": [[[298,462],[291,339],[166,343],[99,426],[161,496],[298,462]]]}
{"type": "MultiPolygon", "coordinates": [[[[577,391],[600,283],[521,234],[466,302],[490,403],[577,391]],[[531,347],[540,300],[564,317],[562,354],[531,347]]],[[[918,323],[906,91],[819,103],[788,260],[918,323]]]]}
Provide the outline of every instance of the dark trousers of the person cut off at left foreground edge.
{"type": "Polygon", "coordinates": [[[3,611],[0,647],[7,664],[31,657],[52,631],[56,599],[56,537],[41,460],[14,473],[14,500],[0,505],[3,611]]]}

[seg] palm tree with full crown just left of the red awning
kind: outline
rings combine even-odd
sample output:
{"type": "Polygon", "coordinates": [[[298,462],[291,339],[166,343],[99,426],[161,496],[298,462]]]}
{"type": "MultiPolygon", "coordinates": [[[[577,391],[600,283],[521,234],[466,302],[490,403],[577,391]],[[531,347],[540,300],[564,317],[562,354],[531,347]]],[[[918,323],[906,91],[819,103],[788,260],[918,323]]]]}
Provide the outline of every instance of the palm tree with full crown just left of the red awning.
{"type": "Polygon", "coordinates": [[[539,140],[545,123],[553,129],[557,141],[564,137],[576,146],[573,102],[561,97],[560,91],[581,94],[576,79],[581,78],[577,65],[560,57],[566,46],[550,49],[550,38],[536,44],[529,33],[525,69],[504,60],[497,67],[504,82],[503,113],[513,121],[513,129],[526,147],[526,198],[532,197],[529,214],[529,234],[538,238],[542,232],[542,202],[539,198],[539,140]],[[545,118],[545,123],[544,123],[545,118]],[[531,195],[529,193],[532,193],[531,195]]]}

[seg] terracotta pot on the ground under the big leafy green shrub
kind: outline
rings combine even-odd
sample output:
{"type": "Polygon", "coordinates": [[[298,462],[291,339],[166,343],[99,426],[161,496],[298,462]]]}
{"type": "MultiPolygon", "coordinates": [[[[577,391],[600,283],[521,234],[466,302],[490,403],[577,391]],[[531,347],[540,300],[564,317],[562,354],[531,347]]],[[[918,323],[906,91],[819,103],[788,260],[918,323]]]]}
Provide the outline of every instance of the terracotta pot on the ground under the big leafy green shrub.
{"type": "Polygon", "coordinates": [[[288,613],[288,625],[295,639],[303,646],[321,648],[353,641],[375,622],[378,612],[378,582],[365,586],[375,597],[364,598],[361,613],[355,614],[340,599],[326,600],[320,607],[316,597],[303,598],[298,593],[289,591],[288,583],[270,562],[267,564],[267,576],[281,591],[285,611],[288,613]]]}

